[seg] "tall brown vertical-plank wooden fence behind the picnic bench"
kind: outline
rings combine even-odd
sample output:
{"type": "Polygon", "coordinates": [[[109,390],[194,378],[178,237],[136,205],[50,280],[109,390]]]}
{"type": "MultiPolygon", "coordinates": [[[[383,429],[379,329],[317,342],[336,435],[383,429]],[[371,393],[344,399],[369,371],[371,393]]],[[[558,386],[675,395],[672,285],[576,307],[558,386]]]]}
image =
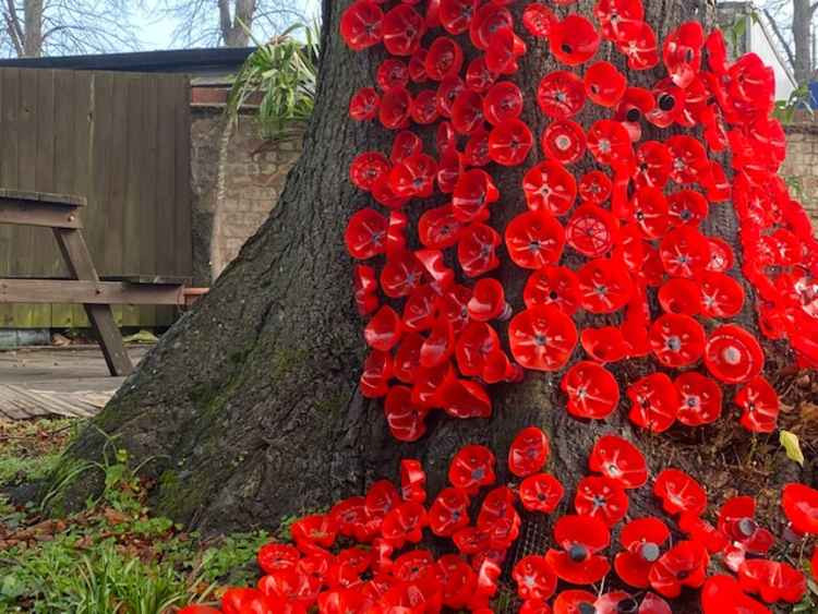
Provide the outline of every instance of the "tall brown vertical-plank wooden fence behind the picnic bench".
{"type": "MultiPolygon", "coordinates": [[[[190,89],[183,75],[0,69],[0,188],[85,196],[100,275],[191,276],[190,89]]],[[[50,229],[0,226],[0,277],[64,277],[50,229]]],[[[168,308],[121,308],[123,326],[168,308]]],[[[0,305],[0,327],[83,327],[82,306],[0,305]]]]}

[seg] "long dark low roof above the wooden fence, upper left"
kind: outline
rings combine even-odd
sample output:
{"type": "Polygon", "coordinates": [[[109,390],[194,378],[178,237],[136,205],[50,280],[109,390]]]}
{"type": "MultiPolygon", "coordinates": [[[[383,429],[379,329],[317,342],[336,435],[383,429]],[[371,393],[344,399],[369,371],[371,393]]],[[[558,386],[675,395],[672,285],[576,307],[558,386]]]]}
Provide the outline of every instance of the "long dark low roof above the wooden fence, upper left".
{"type": "Polygon", "coordinates": [[[207,75],[234,72],[254,50],[255,47],[226,47],[219,49],[104,53],[98,56],[23,58],[0,60],[0,67],[207,75]]]}

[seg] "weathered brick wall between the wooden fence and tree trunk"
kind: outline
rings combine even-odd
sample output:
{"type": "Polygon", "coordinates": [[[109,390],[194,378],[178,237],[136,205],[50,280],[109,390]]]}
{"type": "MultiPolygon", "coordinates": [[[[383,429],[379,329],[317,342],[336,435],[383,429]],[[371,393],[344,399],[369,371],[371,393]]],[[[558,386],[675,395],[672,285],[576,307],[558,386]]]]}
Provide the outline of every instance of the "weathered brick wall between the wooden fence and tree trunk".
{"type": "Polygon", "coordinates": [[[228,125],[220,105],[195,105],[191,127],[195,282],[210,285],[275,206],[300,144],[270,145],[251,117],[228,125]]]}

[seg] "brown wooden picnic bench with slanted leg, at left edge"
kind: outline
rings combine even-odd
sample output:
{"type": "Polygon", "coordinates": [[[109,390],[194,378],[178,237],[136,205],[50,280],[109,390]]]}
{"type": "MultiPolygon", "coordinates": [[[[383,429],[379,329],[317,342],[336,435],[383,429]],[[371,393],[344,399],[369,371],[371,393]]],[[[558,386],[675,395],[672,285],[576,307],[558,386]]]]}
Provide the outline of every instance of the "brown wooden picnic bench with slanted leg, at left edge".
{"type": "Polygon", "coordinates": [[[111,305],[189,306],[205,288],[188,288],[190,279],[164,276],[100,278],[82,233],[80,209],[85,198],[64,194],[0,189],[0,224],[51,228],[69,279],[0,279],[0,303],[76,303],[85,308],[99,338],[111,375],[133,371],[111,305]]]}

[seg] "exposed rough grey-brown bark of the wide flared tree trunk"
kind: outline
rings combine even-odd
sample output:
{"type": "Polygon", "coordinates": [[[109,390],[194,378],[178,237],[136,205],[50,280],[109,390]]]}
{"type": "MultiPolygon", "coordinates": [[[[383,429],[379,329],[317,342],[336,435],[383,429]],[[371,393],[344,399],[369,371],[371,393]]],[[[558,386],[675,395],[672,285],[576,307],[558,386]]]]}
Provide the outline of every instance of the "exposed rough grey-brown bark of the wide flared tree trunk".
{"type": "MultiPolygon", "coordinates": [[[[580,0],[567,9],[590,14],[592,4],[580,0]]],[[[637,442],[654,473],[673,465],[701,479],[718,498],[735,489],[761,492],[757,473],[743,473],[739,466],[751,467],[754,459],[746,450],[750,444],[760,449],[767,440],[756,445],[732,417],[695,432],[679,429],[655,436],[630,425],[625,400],[605,422],[577,421],[565,411],[561,373],[529,372],[521,384],[493,387],[491,419],[462,421],[438,412],[421,441],[401,444],[390,437],[382,404],[366,400],[357,387],[365,356],[363,323],[353,306],[352,262],[342,244],[348,218],[369,204],[369,196],[347,179],[349,162],[359,152],[388,151],[390,145],[392,135],[376,122],[359,124],[347,118],[351,93],[372,84],[384,55],[346,48],[338,36],[346,5],[324,2],[315,113],[304,154],[277,206],[209,294],[163,337],[94,425],[82,433],[70,455],[99,458],[107,441],[100,432],[118,437],[116,445],[125,447],[134,462],[151,459],[144,471],[156,480],[152,493],[156,511],[205,532],[270,528],[286,516],[361,494],[375,479],[395,478],[402,457],[423,461],[434,493],[443,486],[447,462],[460,446],[482,443],[502,455],[521,428],[534,424],[551,436],[549,470],[569,489],[587,473],[594,440],[613,432],[637,442]]],[[[713,10],[709,1],[691,7],[688,0],[651,0],[646,2],[646,19],[664,37],[686,19],[710,23],[713,10]]],[[[545,120],[534,109],[534,93],[555,63],[541,43],[528,36],[526,43],[529,52],[514,80],[526,95],[524,119],[540,134],[545,120]]],[[[622,67],[617,53],[606,57],[601,51],[600,58],[622,67]]],[[[628,76],[631,83],[645,85],[657,75],[628,76]]],[[[596,112],[587,106],[580,121],[588,125],[601,117],[596,112]]],[[[646,139],[660,134],[648,132],[646,139]]],[[[586,167],[577,168],[577,173],[591,165],[586,167]]],[[[504,228],[525,207],[519,189],[524,170],[492,170],[502,194],[493,206],[496,228],[504,228]]],[[[732,207],[713,207],[713,212],[708,232],[721,234],[738,249],[732,207]]],[[[515,311],[519,310],[526,276],[506,263],[498,277],[515,311]]],[[[589,322],[600,325],[614,320],[589,322]]],[[[575,360],[578,357],[579,350],[575,360]]],[[[651,371],[648,360],[614,368],[623,390],[651,371]]],[[[771,471],[766,480],[795,477],[781,469],[779,456],[763,459],[771,471]]],[[[507,480],[504,467],[500,469],[501,481],[507,480]]],[[[98,487],[99,483],[84,478],[62,503],[83,502],[98,487]]],[[[771,483],[765,483],[767,487],[771,483]]],[[[633,492],[631,517],[655,513],[649,491],[633,492]]],[[[544,547],[538,537],[544,534],[541,522],[527,520],[524,549],[544,547]]]]}

